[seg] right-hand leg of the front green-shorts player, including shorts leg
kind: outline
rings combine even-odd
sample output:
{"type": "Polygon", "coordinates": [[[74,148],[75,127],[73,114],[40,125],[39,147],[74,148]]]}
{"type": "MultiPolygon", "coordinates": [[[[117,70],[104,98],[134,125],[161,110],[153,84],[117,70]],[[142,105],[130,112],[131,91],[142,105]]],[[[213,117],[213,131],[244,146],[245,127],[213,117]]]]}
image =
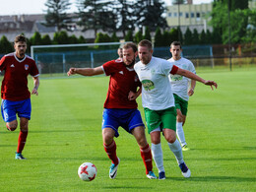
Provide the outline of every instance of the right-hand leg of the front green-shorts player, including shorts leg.
{"type": "Polygon", "coordinates": [[[163,135],[168,143],[170,151],[175,156],[183,176],[189,177],[190,170],[187,168],[182,155],[181,146],[176,139],[176,110],[174,107],[165,109],[161,115],[163,135]]]}

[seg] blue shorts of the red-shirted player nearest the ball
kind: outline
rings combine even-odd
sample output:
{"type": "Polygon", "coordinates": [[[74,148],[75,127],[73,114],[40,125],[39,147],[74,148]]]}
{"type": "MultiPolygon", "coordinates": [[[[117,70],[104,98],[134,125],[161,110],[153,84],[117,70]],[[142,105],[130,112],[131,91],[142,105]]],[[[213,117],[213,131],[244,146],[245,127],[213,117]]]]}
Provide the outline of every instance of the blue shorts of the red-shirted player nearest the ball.
{"type": "Polygon", "coordinates": [[[119,126],[128,133],[131,133],[135,127],[145,127],[141,112],[138,109],[104,108],[102,117],[102,129],[113,129],[115,137],[119,136],[119,126]]]}

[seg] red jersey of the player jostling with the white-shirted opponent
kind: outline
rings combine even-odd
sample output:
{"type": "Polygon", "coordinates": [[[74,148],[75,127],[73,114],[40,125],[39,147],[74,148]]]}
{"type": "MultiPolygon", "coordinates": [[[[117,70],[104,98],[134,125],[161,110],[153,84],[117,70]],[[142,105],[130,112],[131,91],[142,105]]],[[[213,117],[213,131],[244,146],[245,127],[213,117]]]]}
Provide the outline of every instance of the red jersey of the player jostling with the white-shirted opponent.
{"type": "Polygon", "coordinates": [[[137,108],[136,100],[128,99],[130,91],[135,93],[141,87],[134,69],[125,67],[122,59],[108,61],[102,68],[110,76],[104,108],[137,108]]]}

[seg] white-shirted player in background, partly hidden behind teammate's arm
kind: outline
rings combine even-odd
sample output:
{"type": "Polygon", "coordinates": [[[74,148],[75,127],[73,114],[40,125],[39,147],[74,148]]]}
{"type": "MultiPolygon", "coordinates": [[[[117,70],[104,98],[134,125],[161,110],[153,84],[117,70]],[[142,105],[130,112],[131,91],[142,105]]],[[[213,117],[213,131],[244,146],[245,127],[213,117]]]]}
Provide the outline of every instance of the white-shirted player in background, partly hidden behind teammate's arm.
{"type": "MultiPolygon", "coordinates": [[[[172,62],[175,66],[181,69],[186,69],[196,74],[195,67],[193,63],[181,57],[181,44],[179,41],[173,41],[170,44],[170,52],[172,57],[168,61],[172,62]]],[[[177,120],[176,120],[176,134],[178,140],[181,144],[182,151],[188,151],[187,143],[185,140],[185,135],[183,131],[183,126],[186,121],[187,107],[189,96],[193,96],[194,90],[196,87],[196,81],[190,80],[181,75],[169,75],[169,81],[171,84],[171,91],[175,100],[175,107],[177,111],[177,120]],[[189,86],[190,85],[190,86],[189,86]]]]}

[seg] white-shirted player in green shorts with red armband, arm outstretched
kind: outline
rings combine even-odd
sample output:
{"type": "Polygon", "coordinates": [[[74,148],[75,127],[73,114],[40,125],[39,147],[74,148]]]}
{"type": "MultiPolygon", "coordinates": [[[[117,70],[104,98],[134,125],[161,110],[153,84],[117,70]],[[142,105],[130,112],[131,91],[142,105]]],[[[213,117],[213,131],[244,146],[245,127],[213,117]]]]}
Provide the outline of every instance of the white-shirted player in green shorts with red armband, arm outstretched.
{"type": "Polygon", "coordinates": [[[139,42],[138,54],[140,61],[135,64],[134,69],[142,83],[142,105],[148,132],[151,135],[153,159],[159,169],[159,179],[165,179],[160,145],[161,131],[179,164],[182,175],[190,177],[191,171],[183,160],[181,146],[176,139],[176,109],[168,75],[182,75],[211,86],[212,89],[213,86],[217,88],[217,84],[178,68],[167,60],[153,57],[152,43],[149,40],[144,39],[139,42]]]}

